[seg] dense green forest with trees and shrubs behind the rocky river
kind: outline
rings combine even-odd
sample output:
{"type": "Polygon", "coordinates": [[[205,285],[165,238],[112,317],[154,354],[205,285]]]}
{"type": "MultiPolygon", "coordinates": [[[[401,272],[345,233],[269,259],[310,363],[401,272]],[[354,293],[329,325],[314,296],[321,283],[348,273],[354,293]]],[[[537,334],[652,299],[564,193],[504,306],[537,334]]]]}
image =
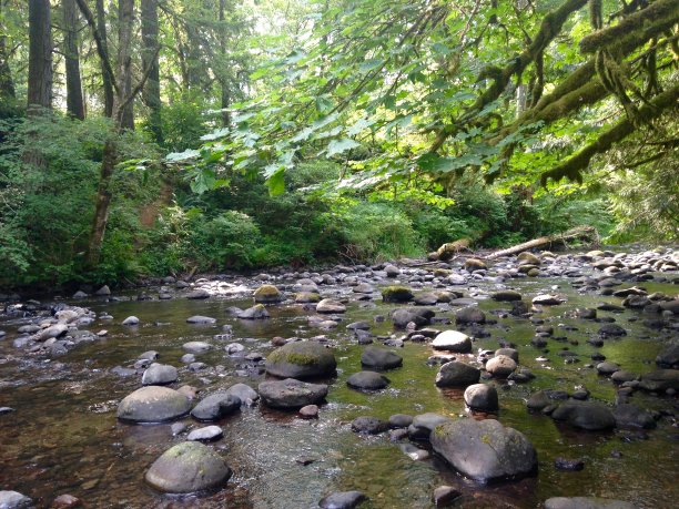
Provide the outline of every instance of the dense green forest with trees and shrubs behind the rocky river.
{"type": "Polygon", "coordinates": [[[0,0],[0,285],[679,237],[676,0],[0,0]]]}

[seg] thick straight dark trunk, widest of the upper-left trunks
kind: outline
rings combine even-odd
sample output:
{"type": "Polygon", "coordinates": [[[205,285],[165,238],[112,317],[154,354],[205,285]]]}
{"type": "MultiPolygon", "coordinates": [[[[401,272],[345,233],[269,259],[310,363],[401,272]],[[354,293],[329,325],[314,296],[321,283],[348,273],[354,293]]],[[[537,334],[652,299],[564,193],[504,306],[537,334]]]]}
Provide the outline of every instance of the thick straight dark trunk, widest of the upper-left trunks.
{"type": "Polygon", "coordinates": [[[29,0],[29,114],[52,108],[50,0],[29,0]]]}

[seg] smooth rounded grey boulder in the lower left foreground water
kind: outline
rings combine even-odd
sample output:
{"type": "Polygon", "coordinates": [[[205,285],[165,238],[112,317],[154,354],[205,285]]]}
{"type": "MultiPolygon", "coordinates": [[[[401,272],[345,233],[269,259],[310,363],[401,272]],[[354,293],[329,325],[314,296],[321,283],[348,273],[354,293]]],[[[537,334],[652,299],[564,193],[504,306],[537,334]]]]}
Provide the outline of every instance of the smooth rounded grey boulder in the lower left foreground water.
{"type": "Polygon", "coordinates": [[[146,471],[153,488],[170,493],[191,493],[223,486],[231,477],[224,460],[207,446],[184,441],[171,447],[146,471]]]}

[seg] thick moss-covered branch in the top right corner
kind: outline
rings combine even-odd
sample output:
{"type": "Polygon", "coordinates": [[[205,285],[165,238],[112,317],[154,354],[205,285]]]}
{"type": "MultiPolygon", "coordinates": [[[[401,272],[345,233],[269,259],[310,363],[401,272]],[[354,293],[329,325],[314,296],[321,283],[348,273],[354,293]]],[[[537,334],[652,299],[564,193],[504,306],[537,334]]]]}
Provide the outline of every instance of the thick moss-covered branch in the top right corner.
{"type": "Polygon", "coordinates": [[[640,31],[657,35],[672,28],[679,21],[679,1],[658,0],[646,9],[629,14],[615,27],[598,30],[580,41],[582,53],[625,44],[640,31]]]}

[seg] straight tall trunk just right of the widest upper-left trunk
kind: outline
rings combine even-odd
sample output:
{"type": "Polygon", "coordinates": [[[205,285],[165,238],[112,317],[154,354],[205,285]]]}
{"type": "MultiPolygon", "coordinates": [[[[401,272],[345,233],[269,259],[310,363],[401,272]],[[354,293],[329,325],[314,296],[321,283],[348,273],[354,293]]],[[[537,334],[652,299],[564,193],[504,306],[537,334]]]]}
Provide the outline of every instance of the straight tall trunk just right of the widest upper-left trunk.
{"type": "Polygon", "coordinates": [[[75,0],[62,0],[63,3],[63,53],[67,73],[67,112],[84,120],[84,101],[80,81],[80,51],[78,47],[78,7],[75,0]]]}

